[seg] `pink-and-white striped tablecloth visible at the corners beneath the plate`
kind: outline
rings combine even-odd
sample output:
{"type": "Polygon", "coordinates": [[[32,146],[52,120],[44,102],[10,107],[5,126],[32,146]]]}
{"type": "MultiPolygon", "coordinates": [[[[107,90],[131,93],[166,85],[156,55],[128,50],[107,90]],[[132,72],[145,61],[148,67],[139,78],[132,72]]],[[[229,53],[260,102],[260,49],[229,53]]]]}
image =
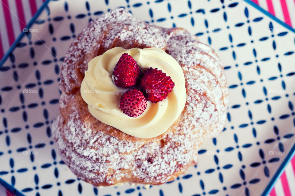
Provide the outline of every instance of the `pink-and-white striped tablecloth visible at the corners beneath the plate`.
{"type": "MultiPolygon", "coordinates": [[[[0,0],[0,58],[26,27],[45,0],[0,0]],[[29,2],[29,3],[28,3],[29,2]]],[[[252,0],[264,10],[295,28],[295,0],[252,0]]],[[[270,196],[295,196],[295,157],[278,179],[270,196]]],[[[0,185],[0,196],[13,196],[0,185]]]]}

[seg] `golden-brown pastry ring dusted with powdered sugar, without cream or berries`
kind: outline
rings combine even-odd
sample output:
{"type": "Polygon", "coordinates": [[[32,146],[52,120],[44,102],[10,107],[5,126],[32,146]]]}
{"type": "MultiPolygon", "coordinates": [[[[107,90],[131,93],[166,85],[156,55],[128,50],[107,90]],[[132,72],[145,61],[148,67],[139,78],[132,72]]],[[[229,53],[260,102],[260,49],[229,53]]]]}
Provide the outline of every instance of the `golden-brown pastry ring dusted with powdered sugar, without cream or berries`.
{"type": "Polygon", "coordinates": [[[228,89],[218,56],[185,29],[164,29],[121,9],[92,21],[71,45],[61,73],[60,116],[54,139],[66,165],[94,186],[117,183],[162,184],[197,162],[198,148],[223,129],[228,89]],[[160,136],[141,139],[94,118],[81,98],[87,63],[110,48],[157,47],[181,65],[186,106],[160,136]]]}

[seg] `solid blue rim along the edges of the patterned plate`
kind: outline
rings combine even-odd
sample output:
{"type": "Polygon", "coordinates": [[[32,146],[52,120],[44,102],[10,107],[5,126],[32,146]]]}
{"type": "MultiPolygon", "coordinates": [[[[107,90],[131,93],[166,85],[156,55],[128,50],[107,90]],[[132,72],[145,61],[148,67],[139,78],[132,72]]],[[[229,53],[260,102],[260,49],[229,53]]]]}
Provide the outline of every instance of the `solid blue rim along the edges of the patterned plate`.
{"type": "MultiPolygon", "coordinates": [[[[27,29],[29,29],[33,25],[33,23],[37,20],[37,18],[40,16],[40,14],[46,8],[46,6],[48,5],[48,3],[50,1],[52,1],[52,0],[46,0],[42,4],[42,6],[37,10],[37,12],[35,13],[35,15],[32,17],[32,19],[26,25],[26,28],[27,29]]],[[[256,3],[254,3],[254,2],[252,2],[250,0],[243,0],[243,1],[245,1],[246,3],[248,3],[250,6],[253,6],[254,8],[256,8],[257,10],[259,10],[260,12],[262,12],[263,14],[265,14],[266,16],[268,16],[269,18],[273,19],[274,21],[276,21],[277,23],[279,23],[283,27],[285,27],[285,28],[289,29],[290,31],[292,31],[293,33],[295,33],[295,29],[293,29],[291,26],[287,25],[285,22],[281,21],[277,17],[273,16],[272,14],[270,14],[269,12],[267,12],[266,10],[262,9],[256,3]]],[[[25,36],[25,34],[26,34],[25,32],[22,32],[18,36],[18,38],[14,41],[14,43],[12,44],[12,46],[9,48],[9,50],[6,52],[6,54],[1,59],[1,61],[0,61],[0,67],[2,65],[4,65],[4,63],[6,62],[8,56],[10,55],[10,53],[14,51],[16,44],[18,44],[22,40],[22,38],[25,36]]],[[[270,182],[268,183],[268,185],[265,187],[265,189],[262,192],[261,196],[266,196],[266,195],[269,194],[270,190],[273,188],[274,184],[277,182],[277,180],[279,179],[279,177],[281,176],[281,174],[285,170],[285,167],[287,166],[287,164],[289,163],[289,161],[292,159],[292,157],[294,155],[295,155],[295,144],[293,145],[293,147],[289,151],[288,155],[285,157],[285,159],[281,163],[280,167],[277,169],[276,173],[273,175],[273,178],[270,180],[270,182]]],[[[9,183],[7,183],[6,181],[4,181],[1,178],[0,178],[0,184],[3,187],[5,187],[6,189],[10,190],[12,193],[14,193],[17,196],[25,196],[24,194],[22,194],[20,191],[16,190],[13,186],[11,186],[9,183]]]]}

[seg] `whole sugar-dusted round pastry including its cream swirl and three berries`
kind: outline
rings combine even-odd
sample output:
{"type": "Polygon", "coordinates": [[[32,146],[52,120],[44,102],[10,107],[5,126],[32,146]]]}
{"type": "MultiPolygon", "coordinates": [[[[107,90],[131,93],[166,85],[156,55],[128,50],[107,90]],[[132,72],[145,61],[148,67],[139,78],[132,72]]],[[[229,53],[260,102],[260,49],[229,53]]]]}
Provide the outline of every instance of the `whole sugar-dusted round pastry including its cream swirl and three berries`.
{"type": "Polygon", "coordinates": [[[60,89],[57,151],[94,186],[174,180],[226,120],[228,88],[215,52],[185,29],[152,26],[121,8],[71,44],[60,89]]]}

